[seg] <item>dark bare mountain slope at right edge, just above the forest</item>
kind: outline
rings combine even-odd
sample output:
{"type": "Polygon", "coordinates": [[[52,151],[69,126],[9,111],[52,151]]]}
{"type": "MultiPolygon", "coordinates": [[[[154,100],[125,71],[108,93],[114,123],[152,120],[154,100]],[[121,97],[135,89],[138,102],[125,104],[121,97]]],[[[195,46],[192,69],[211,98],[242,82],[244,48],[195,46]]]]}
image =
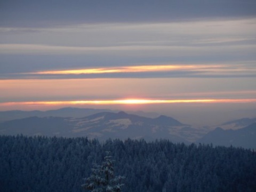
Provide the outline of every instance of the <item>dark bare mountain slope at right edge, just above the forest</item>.
{"type": "Polygon", "coordinates": [[[256,149],[256,123],[238,130],[223,130],[217,127],[197,140],[197,143],[256,149]]]}

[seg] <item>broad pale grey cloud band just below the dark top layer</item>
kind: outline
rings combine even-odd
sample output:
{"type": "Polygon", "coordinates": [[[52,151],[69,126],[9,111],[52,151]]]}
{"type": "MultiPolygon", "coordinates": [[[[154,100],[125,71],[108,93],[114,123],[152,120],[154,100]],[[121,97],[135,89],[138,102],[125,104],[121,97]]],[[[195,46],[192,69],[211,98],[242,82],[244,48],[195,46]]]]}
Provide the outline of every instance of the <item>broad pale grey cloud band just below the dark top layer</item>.
{"type": "Polygon", "coordinates": [[[255,19],[94,23],[55,28],[2,27],[0,54],[118,53],[120,57],[184,57],[235,51],[247,54],[255,49],[255,27],[255,19]]]}

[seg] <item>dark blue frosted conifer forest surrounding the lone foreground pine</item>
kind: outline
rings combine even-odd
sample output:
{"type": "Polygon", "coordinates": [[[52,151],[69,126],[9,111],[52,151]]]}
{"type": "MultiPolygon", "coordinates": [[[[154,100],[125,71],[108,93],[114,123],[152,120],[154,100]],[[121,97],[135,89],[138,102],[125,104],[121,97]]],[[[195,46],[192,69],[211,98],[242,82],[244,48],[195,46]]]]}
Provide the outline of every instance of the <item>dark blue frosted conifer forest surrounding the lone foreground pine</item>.
{"type": "Polygon", "coordinates": [[[256,153],[167,140],[0,136],[0,191],[83,191],[110,151],[122,191],[256,191],[256,153]]]}

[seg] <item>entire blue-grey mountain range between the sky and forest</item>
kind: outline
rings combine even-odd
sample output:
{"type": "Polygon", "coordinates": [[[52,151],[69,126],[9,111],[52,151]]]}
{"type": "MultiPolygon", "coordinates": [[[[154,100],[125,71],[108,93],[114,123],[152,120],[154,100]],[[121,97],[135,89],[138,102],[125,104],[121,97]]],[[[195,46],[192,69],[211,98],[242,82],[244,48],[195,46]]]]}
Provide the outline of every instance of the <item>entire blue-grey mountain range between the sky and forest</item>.
{"type": "Polygon", "coordinates": [[[2,111],[1,135],[25,134],[57,137],[87,137],[101,141],[111,139],[169,139],[172,142],[212,143],[256,149],[256,118],[236,119],[215,130],[194,128],[178,120],[154,113],[108,109],[62,108],[50,111],[2,111]],[[89,115],[88,115],[89,114],[89,115]],[[3,116],[2,116],[3,115],[3,116]],[[8,120],[8,115],[13,115],[8,120]],[[22,118],[22,117],[26,118],[22,118]],[[29,116],[29,117],[27,117],[29,116]],[[20,118],[17,118],[20,117],[20,118]],[[13,119],[17,118],[17,119],[13,119]],[[7,119],[7,120],[6,120],[7,119]],[[231,127],[232,129],[228,129],[231,127]]]}

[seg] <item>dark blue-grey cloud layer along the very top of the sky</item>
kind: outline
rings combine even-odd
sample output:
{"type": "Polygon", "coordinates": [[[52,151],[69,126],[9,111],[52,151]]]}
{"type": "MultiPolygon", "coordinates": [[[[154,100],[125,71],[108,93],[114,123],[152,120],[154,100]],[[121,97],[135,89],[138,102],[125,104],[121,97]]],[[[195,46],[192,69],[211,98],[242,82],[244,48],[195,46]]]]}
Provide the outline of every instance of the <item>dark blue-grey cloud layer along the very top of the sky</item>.
{"type": "Polygon", "coordinates": [[[9,0],[0,26],[54,26],[93,22],[158,22],[211,17],[254,17],[254,0],[9,0]]]}

